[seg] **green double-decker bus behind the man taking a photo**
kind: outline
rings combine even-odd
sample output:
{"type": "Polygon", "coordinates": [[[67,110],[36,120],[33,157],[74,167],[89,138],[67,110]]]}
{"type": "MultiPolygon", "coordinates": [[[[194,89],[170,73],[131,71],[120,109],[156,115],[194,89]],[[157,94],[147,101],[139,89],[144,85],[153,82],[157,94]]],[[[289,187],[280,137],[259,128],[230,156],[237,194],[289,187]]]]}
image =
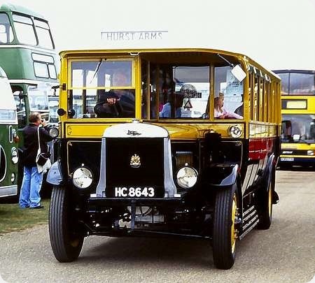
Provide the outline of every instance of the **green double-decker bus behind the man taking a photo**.
{"type": "MultiPolygon", "coordinates": [[[[31,112],[41,113],[50,122],[49,98],[55,97],[59,86],[59,55],[48,21],[42,15],[21,6],[0,6],[0,66],[15,99],[18,131],[27,125],[31,112]]],[[[52,119],[55,123],[55,116],[52,119]]],[[[22,133],[18,136],[22,153],[22,133]]]]}

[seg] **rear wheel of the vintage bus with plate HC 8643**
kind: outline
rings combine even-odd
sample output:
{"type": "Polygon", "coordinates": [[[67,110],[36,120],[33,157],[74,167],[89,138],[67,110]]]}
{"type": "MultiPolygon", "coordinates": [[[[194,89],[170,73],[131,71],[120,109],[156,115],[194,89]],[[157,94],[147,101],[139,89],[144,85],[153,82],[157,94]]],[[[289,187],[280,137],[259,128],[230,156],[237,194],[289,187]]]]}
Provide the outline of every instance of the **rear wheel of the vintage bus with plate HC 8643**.
{"type": "Polygon", "coordinates": [[[272,173],[268,178],[266,187],[260,193],[260,205],[259,205],[259,223],[258,229],[267,230],[272,223],[272,196],[274,194],[276,173],[275,169],[272,168],[272,173]]]}

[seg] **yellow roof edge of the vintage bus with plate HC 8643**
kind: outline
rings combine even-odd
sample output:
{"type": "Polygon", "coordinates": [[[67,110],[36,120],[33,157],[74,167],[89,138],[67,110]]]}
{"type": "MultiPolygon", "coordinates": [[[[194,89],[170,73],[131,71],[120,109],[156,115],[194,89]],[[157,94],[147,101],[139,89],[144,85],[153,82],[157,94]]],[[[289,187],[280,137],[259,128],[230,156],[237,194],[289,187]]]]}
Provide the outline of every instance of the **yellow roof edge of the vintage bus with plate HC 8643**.
{"type": "MultiPolygon", "coordinates": [[[[255,67],[258,67],[261,69],[261,71],[264,71],[265,73],[269,73],[270,75],[273,75],[274,78],[277,78],[278,80],[281,80],[279,75],[276,75],[273,71],[270,71],[264,67],[262,67],[260,64],[258,64],[256,61],[251,59],[250,57],[243,55],[241,53],[237,52],[230,52],[225,50],[216,50],[216,49],[209,49],[209,48],[154,48],[154,49],[82,49],[82,50],[63,50],[59,52],[59,55],[61,57],[67,56],[67,55],[78,55],[82,53],[90,54],[90,55],[99,55],[102,53],[120,53],[125,55],[131,55],[131,54],[137,54],[137,53],[172,53],[172,52],[196,52],[196,53],[212,53],[214,55],[220,54],[223,56],[230,56],[235,57],[239,60],[248,60],[249,64],[252,64],[255,67]]],[[[219,59],[218,57],[218,60],[219,59]]]]}

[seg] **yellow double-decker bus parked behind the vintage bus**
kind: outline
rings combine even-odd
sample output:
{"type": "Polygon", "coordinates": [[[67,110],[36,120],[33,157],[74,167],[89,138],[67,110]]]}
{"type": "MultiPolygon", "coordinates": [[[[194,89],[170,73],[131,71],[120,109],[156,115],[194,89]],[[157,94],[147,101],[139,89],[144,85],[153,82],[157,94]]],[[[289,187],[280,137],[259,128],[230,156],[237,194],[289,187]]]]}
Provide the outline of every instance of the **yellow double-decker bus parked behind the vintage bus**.
{"type": "Polygon", "coordinates": [[[279,166],[315,166],[315,71],[276,70],[281,78],[279,166]]]}

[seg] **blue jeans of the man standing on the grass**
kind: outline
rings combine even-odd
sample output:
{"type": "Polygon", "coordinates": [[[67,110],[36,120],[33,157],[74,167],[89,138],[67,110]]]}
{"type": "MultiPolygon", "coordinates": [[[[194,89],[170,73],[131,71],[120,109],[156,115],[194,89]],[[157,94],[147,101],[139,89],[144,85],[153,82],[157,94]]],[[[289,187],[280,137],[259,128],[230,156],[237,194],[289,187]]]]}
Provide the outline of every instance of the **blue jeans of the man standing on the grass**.
{"type": "Polygon", "coordinates": [[[24,166],[24,175],[20,192],[21,208],[36,208],[41,205],[41,183],[43,182],[43,173],[38,173],[37,166],[24,166]]]}

